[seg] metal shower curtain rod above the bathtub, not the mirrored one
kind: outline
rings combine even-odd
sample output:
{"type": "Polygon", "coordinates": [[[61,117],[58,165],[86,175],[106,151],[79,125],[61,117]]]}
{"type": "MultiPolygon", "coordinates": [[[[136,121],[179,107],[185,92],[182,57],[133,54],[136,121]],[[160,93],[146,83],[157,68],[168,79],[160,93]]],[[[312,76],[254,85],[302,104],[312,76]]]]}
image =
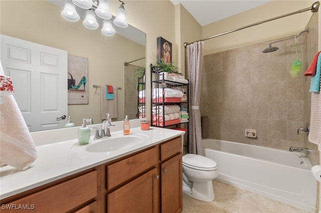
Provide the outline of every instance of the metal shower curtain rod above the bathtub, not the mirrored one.
{"type": "MultiPolygon", "coordinates": [[[[236,29],[232,29],[230,31],[226,31],[226,32],[223,32],[223,33],[220,33],[220,34],[216,34],[216,35],[207,37],[207,38],[203,38],[201,40],[196,40],[196,41],[193,41],[191,43],[208,40],[208,39],[211,39],[211,38],[214,38],[214,37],[225,35],[225,34],[228,34],[228,33],[231,33],[231,32],[235,32],[235,31],[238,31],[238,30],[241,30],[241,29],[245,29],[245,28],[248,28],[248,27],[251,27],[251,26],[256,26],[256,25],[261,24],[261,23],[265,23],[265,22],[268,22],[268,21],[271,21],[271,20],[275,20],[275,19],[278,19],[278,18],[286,17],[286,16],[293,15],[293,14],[296,14],[296,13],[305,12],[305,11],[308,11],[308,10],[311,10],[311,12],[317,12],[317,10],[319,8],[319,5],[320,5],[320,2],[319,1],[315,1],[314,3],[312,3],[312,5],[310,7],[307,7],[307,8],[304,8],[304,9],[300,9],[300,10],[297,10],[295,12],[290,12],[290,13],[287,13],[287,14],[284,14],[284,15],[280,15],[280,16],[277,16],[277,17],[274,17],[274,18],[269,18],[269,19],[266,19],[266,20],[262,20],[262,21],[259,21],[259,22],[256,22],[256,23],[252,23],[252,24],[249,24],[249,25],[246,25],[246,26],[242,26],[242,27],[239,27],[239,28],[236,28],[236,29]]],[[[191,43],[185,42],[184,46],[186,47],[187,45],[189,45],[191,43]]]]}

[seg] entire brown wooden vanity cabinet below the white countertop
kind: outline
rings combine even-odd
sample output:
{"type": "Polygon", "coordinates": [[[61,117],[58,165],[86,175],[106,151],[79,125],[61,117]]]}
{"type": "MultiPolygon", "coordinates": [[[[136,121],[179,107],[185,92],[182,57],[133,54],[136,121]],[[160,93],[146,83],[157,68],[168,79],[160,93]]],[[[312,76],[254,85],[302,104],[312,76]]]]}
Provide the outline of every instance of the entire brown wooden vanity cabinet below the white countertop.
{"type": "Polygon", "coordinates": [[[182,212],[182,137],[1,200],[19,212],[182,212]],[[29,206],[28,206],[29,205],[29,206]]]}

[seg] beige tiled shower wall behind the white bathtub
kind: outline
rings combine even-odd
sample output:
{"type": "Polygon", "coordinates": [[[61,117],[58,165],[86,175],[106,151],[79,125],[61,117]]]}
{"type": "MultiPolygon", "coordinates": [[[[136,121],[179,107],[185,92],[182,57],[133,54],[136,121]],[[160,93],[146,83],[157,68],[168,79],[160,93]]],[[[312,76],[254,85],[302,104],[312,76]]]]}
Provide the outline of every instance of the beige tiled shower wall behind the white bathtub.
{"type": "Polygon", "coordinates": [[[289,73],[296,58],[294,38],[273,43],[279,49],[270,53],[262,52],[268,47],[266,41],[204,56],[200,110],[209,117],[209,138],[285,150],[306,147],[307,136],[303,131],[297,134],[297,129],[309,121],[305,85],[309,86],[309,79],[303,73],[311,60],[306,52],[317,51],[316,43],[307,42],[307,37],[317,40],[311,38],[317,36],[317,29],[311,27],[317,28],[317,23],[309,24],[316,33],[303,32],[298,37],[298,56],[303,62],[298,77],[289,73]],[[257,137],[246,137],[246,128],[256,129],[257,137]]]}

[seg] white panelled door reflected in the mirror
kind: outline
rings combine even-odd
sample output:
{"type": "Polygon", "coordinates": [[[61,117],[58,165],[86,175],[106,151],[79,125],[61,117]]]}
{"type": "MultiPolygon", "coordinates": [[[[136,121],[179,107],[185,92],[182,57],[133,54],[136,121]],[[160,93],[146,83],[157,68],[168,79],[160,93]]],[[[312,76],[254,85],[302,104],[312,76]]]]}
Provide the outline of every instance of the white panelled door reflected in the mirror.
{"type": "Polygon", "coordinates": [[[63,127],[68,115],[68,52],[1,34],[1,62],[30,131],[63,127]]]}

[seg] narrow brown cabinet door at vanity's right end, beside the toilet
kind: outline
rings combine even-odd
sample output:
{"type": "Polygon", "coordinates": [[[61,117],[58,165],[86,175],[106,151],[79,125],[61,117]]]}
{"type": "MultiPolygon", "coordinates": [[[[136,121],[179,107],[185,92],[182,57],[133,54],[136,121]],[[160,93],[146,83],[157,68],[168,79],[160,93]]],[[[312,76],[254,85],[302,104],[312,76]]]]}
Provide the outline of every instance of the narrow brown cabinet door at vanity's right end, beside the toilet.
{"type": "Polygon", "coordinates": [[[183,210],[182,153],[162,163],[161,169],[162,212],[181,212],[183,210]]]}

